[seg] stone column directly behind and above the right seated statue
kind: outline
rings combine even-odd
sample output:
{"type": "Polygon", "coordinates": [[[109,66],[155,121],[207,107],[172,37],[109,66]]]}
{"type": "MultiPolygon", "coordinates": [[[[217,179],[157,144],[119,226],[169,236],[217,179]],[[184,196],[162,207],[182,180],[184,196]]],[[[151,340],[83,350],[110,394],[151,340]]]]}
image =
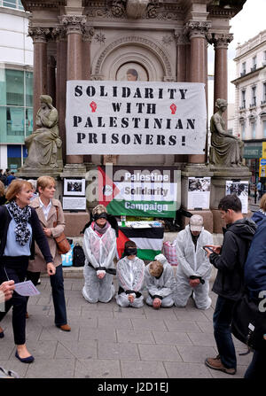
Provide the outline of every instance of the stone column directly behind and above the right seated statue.
{"type": "MultiPolygon", "coordinates": [[[[215,93],[214,93],[214,113],[215,101],[218,98],[227,100],[227,50],[228,44],[231,43],[233,35],[218,34],[212,35],[211,43],[215,45],[215,93]]],[[[223,115],[227,124],[227,112],[223,115]]]]}

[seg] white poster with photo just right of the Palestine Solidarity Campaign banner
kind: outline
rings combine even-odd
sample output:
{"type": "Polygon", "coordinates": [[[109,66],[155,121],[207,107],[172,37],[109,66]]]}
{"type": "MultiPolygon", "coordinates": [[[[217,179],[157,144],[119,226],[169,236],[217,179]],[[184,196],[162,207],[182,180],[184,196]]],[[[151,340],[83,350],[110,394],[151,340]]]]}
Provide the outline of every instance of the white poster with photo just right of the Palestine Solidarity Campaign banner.
{"type": "Polygon", "coordinates": [[[188,178],[188,209],[209,209],[210,177],[188,178]]]}

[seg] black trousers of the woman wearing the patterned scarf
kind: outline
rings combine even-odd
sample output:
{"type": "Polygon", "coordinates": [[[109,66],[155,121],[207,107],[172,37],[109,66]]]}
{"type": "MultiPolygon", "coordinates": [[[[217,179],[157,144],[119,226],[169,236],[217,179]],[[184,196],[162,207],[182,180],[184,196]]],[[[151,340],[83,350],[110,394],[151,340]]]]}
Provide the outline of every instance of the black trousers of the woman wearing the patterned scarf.
{"type": "MultiPolygon", "coordinates": [[[[0,283],[13,280],[15,283],[25,281],[27,273],[28,257],[6,257],[3,256],[0,262],[0,283]]],[[[22,345],[26,342],[26,310],[27,299],[20,296],[16,291],[13,292],[12,299],[5,301],[4,312],[0,312],[0,322],[12,310],[12,327],[14,333],[14,342],[16,345],[22,345]]]]}

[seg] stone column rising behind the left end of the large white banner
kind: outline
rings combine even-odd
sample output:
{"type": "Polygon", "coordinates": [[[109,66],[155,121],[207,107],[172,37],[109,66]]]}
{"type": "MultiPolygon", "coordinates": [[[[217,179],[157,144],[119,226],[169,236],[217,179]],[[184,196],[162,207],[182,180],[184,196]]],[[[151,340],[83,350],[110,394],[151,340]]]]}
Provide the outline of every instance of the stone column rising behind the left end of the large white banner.
{"type": "MultiPolygon", "coordinates": [[[[86,16],[63,15],[59,19],[66,27],[66,80],[82,80],[82,28],[85,26],[86,16]]],[[[66,155],[66,163],[83,164],[83,156],[66,155]]]]}

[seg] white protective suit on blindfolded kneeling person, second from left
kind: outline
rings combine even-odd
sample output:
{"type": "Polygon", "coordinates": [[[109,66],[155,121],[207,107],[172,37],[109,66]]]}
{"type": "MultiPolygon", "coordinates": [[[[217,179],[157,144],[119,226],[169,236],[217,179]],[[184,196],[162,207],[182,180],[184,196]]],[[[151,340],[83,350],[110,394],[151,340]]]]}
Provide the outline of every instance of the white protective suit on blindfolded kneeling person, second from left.
{"type": "Polygon", "coordinates": [[[143,288],[145,280],[145,263],[138,259],[137,256],[133,260],[127,257],[119,260],[116,267],[116,274],[119,286],[124,290],[120,294],[117,293],[115,299],[121,307],[143,307],[143,295],[138,296],[138,293],[143,288]],[[129,294],[126,291],[132,291],[135,297],[133,303],[129,302],[129,294]]]}

